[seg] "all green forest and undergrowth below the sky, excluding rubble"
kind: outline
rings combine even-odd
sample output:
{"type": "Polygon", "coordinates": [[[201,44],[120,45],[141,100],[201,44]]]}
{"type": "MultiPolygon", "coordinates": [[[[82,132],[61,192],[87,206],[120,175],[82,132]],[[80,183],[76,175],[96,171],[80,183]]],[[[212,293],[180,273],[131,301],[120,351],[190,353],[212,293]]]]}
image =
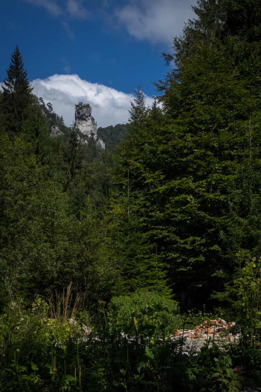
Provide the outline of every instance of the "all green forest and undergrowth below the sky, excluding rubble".
{"type": "Polygon", "coordinates": [[[33,94],[15,48],[0,92],[0,390],[260,387],[261,7],[193,10],[153,105],[138,85],[128,123],[98,129],[105,149],[33,94]],[[220,316],[241,328],[230,351],[169,338],[220,316]]]}

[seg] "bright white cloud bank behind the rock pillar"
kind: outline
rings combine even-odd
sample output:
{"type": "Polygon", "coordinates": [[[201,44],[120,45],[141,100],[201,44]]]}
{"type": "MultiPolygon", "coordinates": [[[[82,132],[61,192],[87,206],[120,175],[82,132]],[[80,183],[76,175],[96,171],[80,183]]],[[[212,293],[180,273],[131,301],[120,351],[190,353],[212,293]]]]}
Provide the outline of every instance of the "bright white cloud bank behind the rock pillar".
{"type": "MultiPolygon", "coordinates": [[[[82,80],[78,75],[55,74],[46,79],[35,79],[32,87],[33,93],[41,96],[45,103],[52,103],[54,111],[63,116],[68,126],[74,121],[74,105],[78,102],[90,104],[98,127],[128,122],[130,101],[135,98],[133,94],[82,80]]],[[[146,100],[149,105],[152,101],[149,97],[146,100]]]]}

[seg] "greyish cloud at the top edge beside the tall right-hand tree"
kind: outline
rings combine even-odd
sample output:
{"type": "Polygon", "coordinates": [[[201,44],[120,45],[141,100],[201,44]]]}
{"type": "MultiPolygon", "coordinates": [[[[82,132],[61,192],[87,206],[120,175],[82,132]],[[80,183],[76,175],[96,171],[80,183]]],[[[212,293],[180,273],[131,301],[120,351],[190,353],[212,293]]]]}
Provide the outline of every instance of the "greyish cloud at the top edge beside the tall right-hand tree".
{"type": "Polygon", "coordinates": [[[196,0],[130,0],[114,12],[130,35],[153,44],[169,44],[182,32],[184,22],[193,18],[191,4],[196,0]]]}

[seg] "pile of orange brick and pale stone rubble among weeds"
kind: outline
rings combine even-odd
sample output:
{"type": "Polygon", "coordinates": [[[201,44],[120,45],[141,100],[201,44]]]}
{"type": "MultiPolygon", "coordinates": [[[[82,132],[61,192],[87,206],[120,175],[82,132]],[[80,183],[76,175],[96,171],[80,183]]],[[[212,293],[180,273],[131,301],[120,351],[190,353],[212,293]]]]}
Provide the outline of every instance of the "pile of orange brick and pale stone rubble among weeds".
{"type": "Polygon", "coordinates": [[[171,336],[171,340],[175,341],[184,338],[183,352],[188,351],[199,352],[204,343],[211,340],[214,341],[222,350],[226,350],[225,346],[231,343],[238,343],[241,331],[230,332],[235,323],[226,323],[225,320],[218,318],[216,320],[205,320],[202,325],[198,325],[193,329],[176,330],[171,336]]]}

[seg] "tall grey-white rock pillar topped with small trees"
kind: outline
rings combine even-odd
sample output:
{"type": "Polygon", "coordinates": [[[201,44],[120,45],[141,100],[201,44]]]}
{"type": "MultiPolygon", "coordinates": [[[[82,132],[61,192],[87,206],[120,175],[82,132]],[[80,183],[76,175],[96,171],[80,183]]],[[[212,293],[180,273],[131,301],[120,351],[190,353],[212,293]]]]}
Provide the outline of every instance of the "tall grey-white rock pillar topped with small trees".
{"type": "Polygon", "coordinates": [[[74,128],[79,129],[88,138],[97,140],[97,123],[92,117],[92,108],[84,105],[75,110],[74,128]]]}

